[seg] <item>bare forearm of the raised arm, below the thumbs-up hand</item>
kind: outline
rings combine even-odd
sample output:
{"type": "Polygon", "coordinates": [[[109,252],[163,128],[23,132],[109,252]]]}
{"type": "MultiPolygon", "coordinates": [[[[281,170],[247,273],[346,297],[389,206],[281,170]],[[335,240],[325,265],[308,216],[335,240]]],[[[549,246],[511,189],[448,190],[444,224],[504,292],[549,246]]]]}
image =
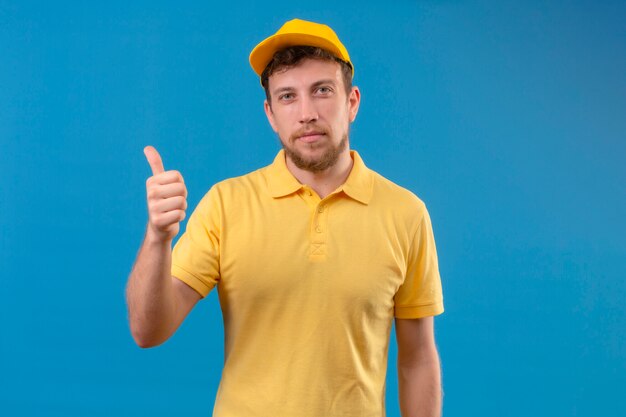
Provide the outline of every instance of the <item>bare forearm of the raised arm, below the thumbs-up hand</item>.
{"type": "Polygon", "coordinates": [[[128,319],[133,338],[141,347],[163,343],[174,327],[171,252],[171,241],[152,239],[147,233],[128,279],[128,319]]]}

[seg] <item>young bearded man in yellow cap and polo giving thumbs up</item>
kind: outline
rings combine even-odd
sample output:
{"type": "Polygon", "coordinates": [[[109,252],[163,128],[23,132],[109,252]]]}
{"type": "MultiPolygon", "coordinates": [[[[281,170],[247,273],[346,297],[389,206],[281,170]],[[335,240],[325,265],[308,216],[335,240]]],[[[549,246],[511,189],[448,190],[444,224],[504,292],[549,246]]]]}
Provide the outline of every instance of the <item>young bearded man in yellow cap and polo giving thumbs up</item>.
{"type": "Polygon", "coordinates": [[[169,338],[217,287],[225,363],[216,417],[385,415],[396,322],[402,415],[438,416],[433,316],[443,312],[430,218],[349,147],[360,92],[327,26],[292,20],[251,53],[283,149],[214,185],[189,218],[178,171],[152,147],[149,222],[129,278],[133,337],[169,338]]]}

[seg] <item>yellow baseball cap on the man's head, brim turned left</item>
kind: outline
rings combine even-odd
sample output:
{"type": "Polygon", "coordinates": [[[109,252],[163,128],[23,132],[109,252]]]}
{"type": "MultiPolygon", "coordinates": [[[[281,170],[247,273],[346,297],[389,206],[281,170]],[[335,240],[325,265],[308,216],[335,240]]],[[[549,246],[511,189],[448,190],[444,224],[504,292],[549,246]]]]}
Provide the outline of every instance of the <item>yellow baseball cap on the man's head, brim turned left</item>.
{"type": "Polygon", "coordinates": [[[296,45],[326,49],[337,58],[349,63],[352,67],[352,76],[354,76],[354,65],[350,61],[348,50],[343,46],[337,34],[326,25],[300,19],[288,21],[278,29],[278,32],[255,46],[250,53],[250,65],[260,77],[276,51],[296,45]]]}

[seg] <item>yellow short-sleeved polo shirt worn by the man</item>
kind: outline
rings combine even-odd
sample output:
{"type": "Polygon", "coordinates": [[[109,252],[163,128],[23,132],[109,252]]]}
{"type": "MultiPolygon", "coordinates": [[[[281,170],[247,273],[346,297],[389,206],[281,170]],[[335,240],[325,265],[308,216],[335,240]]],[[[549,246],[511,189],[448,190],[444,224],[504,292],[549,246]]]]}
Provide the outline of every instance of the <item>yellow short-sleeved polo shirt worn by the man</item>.
{"type": "Polygon", "coordinates": [[[320,199],[274,162],[209,190],[172,275],[217,286],[225,363],[214,417],[382,417],[393,317],[443,312],[426,207],[351,151],[320,199]]]}

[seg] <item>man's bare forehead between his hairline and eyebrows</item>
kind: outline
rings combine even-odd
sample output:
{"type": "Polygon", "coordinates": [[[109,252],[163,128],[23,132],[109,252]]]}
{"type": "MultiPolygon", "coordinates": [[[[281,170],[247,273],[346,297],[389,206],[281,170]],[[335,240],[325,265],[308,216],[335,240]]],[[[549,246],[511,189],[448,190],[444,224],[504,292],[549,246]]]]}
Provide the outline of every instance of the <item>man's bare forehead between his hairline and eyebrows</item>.
{"type": "Polygon", "coordinates": [[[269,78],[269,88],[309,87],[320,80],[332,80],[342,85],[341,65],[336,61],[306,58],[296,66],[281,69],[269,78]]]}

